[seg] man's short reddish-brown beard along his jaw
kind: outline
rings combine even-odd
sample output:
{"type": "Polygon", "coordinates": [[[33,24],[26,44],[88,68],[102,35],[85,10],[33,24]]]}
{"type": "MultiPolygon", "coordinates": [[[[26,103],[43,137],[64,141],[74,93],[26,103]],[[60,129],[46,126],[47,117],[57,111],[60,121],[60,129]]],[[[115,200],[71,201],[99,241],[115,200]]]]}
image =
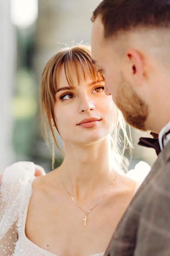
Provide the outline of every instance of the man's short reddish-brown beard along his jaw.
{"type": "Polygon", "coordinates": [[[130,126],[146,131],[148,105],[137,95],[130,83],[121,78],[115,104],[121,110],[124,119],[130,126]]]}

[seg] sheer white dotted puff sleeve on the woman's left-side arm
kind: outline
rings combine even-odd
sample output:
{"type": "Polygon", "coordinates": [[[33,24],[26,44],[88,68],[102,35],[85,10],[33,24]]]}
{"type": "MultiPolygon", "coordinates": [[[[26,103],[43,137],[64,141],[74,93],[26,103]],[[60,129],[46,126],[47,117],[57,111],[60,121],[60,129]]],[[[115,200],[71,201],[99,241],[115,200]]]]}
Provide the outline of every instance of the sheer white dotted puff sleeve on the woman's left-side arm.
{"type": "MultiPolygon", "coordinates": [[[[18,162],[4,171],[0,185],[0,256],[12,256],[18,240],[18,218],[24,209],[32,162],[18,162]]],[[[30,188],[31,189],[31,188],[30,188]]]]}

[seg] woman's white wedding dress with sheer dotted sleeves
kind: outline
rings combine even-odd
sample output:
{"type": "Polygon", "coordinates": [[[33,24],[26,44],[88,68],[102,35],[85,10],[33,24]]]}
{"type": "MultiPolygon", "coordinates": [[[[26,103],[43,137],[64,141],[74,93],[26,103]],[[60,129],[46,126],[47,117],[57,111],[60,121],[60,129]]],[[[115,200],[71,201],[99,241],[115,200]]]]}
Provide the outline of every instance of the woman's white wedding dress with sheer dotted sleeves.
{"type": "MultiPolygon", "coordinates": [[[[145,164],[143,171],[144,168],[150,169],[145,164]]],[[[148,171],[145,176],[147,173],[148,171]]],[[[4,171],[0,185],[0,256],[57,256],[38,247],[25,235],[26,214],[34,175],[35,166],[32,162],[18,162],[4,171]]],[[[142,180],[144,175],[136,190],[142,180]]],[[[98,253],[90,256],[103,255],[104,253],[98,253]]]]}

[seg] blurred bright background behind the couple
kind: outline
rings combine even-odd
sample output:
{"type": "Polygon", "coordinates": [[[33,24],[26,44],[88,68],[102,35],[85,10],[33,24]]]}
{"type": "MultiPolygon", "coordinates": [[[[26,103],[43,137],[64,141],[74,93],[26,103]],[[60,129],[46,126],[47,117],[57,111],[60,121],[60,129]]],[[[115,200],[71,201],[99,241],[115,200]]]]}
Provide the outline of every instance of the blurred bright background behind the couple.
{"type": "MultiPolygon", "coordinates": [[[[65,43],[90,43],[90,18],[98,4],[99,0],[0,1],[0,173],[16,161],[33,161],[51,170],[39,112],[40,76],[46,61],[65,43]]],[[[140,160],[150,165],[155,161],[155,150],[137,146],[141,136],[148,134],[132,129],[129,169],[140,160]]],[[[56,153],[55,166],[61,162],[56,153]]]]}

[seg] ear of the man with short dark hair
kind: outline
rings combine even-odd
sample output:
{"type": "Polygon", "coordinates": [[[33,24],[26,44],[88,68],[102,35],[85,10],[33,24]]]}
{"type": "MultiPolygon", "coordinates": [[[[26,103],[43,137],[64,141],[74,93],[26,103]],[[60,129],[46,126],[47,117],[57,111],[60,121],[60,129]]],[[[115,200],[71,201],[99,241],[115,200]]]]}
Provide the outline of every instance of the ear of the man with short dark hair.
{"type": "Polygon", "coordinates": [[[144,75],[144,60],[141,54],[134,49],[126,51],[126,72],[132,85],[141,86],[144,75]]]}

